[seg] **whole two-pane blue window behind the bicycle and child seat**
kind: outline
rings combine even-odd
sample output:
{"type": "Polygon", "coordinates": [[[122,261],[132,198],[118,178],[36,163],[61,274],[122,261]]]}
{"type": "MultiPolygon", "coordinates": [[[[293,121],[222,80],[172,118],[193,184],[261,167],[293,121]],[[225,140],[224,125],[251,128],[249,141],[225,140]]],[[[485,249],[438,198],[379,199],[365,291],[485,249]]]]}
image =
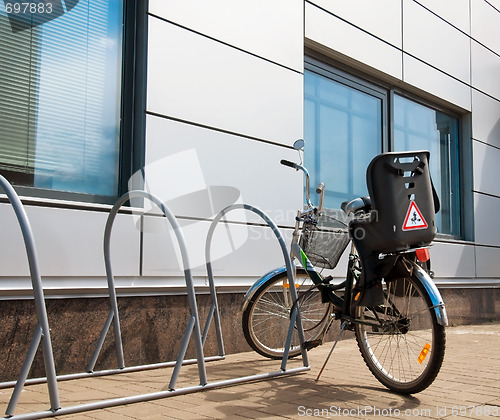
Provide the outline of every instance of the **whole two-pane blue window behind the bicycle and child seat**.
{"type": "Polygon", "coordinates": [[[342,201],[368,194],[366,168],[382,151],[429,150],[441,203],[438,232],[460,237],[459,125],[452,113],[389,87],[373,86],[313,59],[306,62],[305,163],[311,185],[325,182],[328,208],[340,208],[342,201]]]}

